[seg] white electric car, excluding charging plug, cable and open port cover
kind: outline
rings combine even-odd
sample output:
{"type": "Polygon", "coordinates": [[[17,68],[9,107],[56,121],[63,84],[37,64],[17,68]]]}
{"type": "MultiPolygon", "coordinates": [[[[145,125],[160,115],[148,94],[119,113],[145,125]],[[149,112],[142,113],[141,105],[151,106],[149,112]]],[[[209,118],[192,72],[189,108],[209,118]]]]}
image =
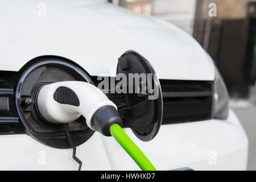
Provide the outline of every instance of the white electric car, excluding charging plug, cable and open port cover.
{"type": "MultiPolygon", "coordinates": [[[[173,24],[104,1],[0,0],[0,169],[76,170],[63,128],[34,105],[40,86],[115,77],[133,49],[158,74],[163,121],[143,142],[125,127],[156,169],[244,170],[248,139],[213,60],[173,24]]],[[[137,170],[112,137],[84,118],[69,126],[83,170],[137,170]]]]}

